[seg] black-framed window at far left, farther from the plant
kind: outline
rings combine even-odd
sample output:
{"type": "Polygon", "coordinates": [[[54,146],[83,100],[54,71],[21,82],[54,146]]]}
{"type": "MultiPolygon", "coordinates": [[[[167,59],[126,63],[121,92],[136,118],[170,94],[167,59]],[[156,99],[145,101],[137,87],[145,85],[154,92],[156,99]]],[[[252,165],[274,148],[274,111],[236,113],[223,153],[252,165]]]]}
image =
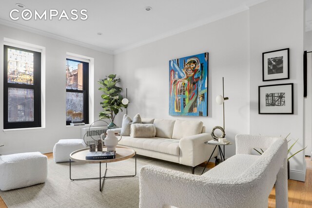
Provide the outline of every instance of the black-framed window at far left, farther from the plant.
{"type": "Polygon", "coordinates": [[[4,45],[3,128],[41,127],[41,53],[4,45]]]}

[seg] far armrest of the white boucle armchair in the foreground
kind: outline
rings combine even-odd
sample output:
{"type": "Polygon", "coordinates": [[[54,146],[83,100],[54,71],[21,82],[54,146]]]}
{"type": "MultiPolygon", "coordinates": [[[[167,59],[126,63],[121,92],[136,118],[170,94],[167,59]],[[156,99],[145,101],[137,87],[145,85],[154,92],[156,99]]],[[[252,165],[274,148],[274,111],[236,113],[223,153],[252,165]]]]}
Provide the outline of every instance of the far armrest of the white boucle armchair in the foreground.
{"type": "Polygon", "coordinates": [[[277,139],[276,136],[237,134],[235,136],[236,154],[251,154],[255,149],[268,149],[277,139]]]}

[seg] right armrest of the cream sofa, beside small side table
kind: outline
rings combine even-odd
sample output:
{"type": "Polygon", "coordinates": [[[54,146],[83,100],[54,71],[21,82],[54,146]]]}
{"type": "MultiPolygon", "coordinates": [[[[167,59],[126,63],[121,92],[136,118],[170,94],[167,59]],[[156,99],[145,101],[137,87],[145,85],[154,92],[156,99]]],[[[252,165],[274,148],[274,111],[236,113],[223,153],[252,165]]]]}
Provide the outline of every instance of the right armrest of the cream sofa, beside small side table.
{"type": "MultiPolygon", "coordinates": [[[[213,152],[215,146],[206,145],[204,142],[213,139],[209,133],[200,133],[193,136],[187,136],[180,139],[180,161],[179,163],[186,166],[195,167],[207,161],[213,152]]],[[[217,156],[216,149],[213,157],[217,156]]],[[[213,158],[212,157],[212,158],[213,158]]]]}

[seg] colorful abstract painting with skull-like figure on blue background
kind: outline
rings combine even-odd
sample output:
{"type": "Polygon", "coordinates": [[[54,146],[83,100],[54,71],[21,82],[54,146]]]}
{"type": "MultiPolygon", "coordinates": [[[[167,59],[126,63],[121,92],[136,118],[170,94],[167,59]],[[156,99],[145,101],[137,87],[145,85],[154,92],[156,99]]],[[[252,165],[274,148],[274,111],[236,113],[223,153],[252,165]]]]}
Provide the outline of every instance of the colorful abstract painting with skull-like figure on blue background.
{"type": "Polygon", "coordinates": [[[208,116],[208,53],[169,61],[169,115],[208,116]]]}

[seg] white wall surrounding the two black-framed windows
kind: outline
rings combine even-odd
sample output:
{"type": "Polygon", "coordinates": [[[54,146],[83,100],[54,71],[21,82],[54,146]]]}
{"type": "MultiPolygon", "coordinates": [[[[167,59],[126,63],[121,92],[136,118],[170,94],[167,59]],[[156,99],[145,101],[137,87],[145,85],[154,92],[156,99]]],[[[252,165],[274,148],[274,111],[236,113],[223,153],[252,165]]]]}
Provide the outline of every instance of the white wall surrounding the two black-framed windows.
{"type": "MultiPolygon", "coordinates": [[[[26,151],[52,152],[60,138],[80,138],[80,127],[66,127],[65,75],[66,53],[94,58],[94,118],[101,111],[97,81],[113,71],[113,56],[78,45],[46,38],[23,30],[0,25],[0,57],[3,57],[3,39],[11,38],[45,47],[46,100],[45,128],[36,130],[3,131],[3,93],[0,93],[0,152],[3,154],[26,151]]],[[[0,58],[0,86],[3,86],[3,58],[0,58]]],[[[3,88],[1,87],[1,91],[3,88]]]]}

